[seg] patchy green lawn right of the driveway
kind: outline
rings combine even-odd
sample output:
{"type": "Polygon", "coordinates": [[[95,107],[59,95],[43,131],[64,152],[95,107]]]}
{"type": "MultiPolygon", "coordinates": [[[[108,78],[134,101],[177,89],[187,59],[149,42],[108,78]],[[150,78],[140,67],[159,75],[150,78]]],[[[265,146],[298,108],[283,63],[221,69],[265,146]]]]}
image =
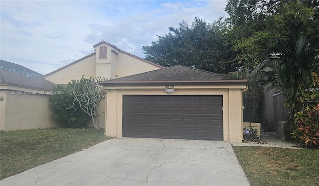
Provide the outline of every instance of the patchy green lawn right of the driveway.
{"type": "Polygon", "coordinates": [[[319,186],[319,150],[233,149],[251,186],[319,186]]]}

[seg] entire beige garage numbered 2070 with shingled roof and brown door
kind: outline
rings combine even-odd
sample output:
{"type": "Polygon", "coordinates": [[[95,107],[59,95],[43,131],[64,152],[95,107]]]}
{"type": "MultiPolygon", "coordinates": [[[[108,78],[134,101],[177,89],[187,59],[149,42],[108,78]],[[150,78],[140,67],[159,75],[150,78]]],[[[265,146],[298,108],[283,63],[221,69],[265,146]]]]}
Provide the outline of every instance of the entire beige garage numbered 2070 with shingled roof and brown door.
{"type": "Polygon", "coordinates": [[[247,80],[172,66],[100,84],[105,134],[241,142],[247,80]]]}

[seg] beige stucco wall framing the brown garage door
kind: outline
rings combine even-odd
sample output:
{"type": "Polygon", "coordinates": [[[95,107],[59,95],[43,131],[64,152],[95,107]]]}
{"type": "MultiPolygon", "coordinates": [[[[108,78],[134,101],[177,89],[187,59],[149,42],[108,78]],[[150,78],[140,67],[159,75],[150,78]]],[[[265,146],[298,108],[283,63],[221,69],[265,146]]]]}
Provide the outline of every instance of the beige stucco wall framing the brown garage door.
{"type": "MultiPolygon", "coordinates": [[[[224,141],[242,140],[241,89],[245,86],[175,86],[170,95],[223,95],[223,138],[224,141]]],[[[163,87],[126,87],[107,90],[105,133],[107,136],[122,137],[123,95],[167,95],[163,87]]]]}

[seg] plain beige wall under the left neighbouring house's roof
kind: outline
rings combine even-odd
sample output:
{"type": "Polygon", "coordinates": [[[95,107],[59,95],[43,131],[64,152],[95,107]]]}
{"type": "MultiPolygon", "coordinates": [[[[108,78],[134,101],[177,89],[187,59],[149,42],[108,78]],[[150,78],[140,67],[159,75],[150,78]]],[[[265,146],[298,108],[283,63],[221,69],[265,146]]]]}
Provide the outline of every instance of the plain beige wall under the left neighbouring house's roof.
{"type": "MultiPolygon", "coordinates": [[[[1,115],[3,112],[1,101],[1,115]]],[[[51,117],[53,110],[49,104],[49,95],[44,94],[8,94],[5,97],[5,118],[1,130],[26,130],[61,127],[51,117]]]]}

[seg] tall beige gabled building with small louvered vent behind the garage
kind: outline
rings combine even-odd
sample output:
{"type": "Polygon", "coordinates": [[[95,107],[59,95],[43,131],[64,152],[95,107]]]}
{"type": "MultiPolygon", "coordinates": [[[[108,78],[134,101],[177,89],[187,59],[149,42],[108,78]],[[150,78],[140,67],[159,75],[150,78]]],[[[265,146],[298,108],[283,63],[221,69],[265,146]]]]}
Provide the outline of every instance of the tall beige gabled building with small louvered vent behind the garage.
{"type": "MultiPolygon", "coordinates": [[[[95,44],[93,48],[95,52],[44,75],[45,80],[54,84],[67,84],[71,80],[80,80],[82,76],[105,77],[110,80],[163,68],[106,41],[95,44]]],[[[101,101],[98,109],[101,128],[104,128],[104,109],[105,100],[101,101]]]]}

